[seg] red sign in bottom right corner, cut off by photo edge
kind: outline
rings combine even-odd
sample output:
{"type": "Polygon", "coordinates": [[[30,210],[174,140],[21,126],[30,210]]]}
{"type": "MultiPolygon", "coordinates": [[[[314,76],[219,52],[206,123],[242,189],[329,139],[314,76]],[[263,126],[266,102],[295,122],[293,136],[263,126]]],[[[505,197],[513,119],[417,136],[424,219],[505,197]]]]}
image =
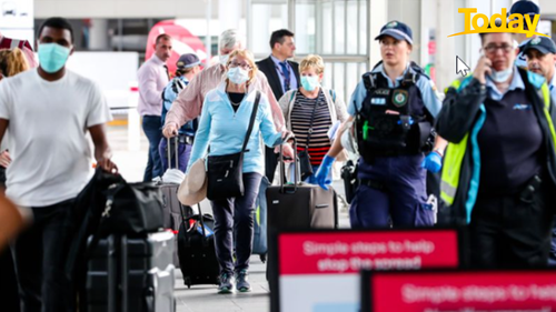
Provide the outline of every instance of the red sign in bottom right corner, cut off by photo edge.
{"type": "Polygon", "coordinates": [[[371,272],[365,279],[365,312],[556,311],[556,271],[371,272]]]}

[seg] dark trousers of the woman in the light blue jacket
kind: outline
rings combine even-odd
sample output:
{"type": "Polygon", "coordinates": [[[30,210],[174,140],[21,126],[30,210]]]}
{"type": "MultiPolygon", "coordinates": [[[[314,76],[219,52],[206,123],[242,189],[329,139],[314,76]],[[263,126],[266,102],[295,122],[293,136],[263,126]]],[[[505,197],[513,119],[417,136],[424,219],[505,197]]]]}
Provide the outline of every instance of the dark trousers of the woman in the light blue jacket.
{"type": "Polygon", "coordinates": [[[210,201],[215,215],[215,246],[220,273],[231,274],[234,271],[249,269],[255,201],[259,194],[261,179],[262,175],[259,173],[244,173],[242,197],[210,201]],[[234,245],[236,245],[236,262],[232,259],[234,245]]]}

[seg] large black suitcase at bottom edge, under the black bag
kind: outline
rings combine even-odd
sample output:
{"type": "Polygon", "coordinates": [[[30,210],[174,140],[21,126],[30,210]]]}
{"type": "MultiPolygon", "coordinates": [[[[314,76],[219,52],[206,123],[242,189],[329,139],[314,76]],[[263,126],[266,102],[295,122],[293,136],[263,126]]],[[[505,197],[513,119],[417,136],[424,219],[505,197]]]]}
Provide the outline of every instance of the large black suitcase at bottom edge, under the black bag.
{"type": "Polygon", "coordinates": [[[173,312],[175,235],[109,235],[92,250],[87,265],[88,312],[173,312]]]}

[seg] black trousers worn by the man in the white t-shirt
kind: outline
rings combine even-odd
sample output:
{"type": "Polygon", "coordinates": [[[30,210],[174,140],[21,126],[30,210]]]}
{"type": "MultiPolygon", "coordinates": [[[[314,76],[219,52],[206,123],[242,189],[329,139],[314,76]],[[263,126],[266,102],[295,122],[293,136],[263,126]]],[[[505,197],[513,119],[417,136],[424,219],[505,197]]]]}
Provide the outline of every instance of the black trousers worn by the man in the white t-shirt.
{"type": "Polygon", "coordinates": [[[73,200],[33,207],[33,223],[14,244],[22,312],[69,309],[69,281],[63,273],[67,218],[73,200]]]}

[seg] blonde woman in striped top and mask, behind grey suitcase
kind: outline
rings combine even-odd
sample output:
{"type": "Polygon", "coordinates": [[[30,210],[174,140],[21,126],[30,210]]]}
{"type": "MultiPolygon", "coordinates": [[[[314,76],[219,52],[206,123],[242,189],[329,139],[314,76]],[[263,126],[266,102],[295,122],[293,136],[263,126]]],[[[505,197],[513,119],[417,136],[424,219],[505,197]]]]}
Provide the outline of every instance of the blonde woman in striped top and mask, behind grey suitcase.
{"type": "Polygon", "coordinates": [[[320,85],[325,72],[322,58],[307,56],[299,64],[299,89],[286,92],[279,100],[286,127],[297,138],[301,179],[316,184],[312,173],[331,147],[330,127],[347,119],[346,104],[331,89],[320,85]]]}

